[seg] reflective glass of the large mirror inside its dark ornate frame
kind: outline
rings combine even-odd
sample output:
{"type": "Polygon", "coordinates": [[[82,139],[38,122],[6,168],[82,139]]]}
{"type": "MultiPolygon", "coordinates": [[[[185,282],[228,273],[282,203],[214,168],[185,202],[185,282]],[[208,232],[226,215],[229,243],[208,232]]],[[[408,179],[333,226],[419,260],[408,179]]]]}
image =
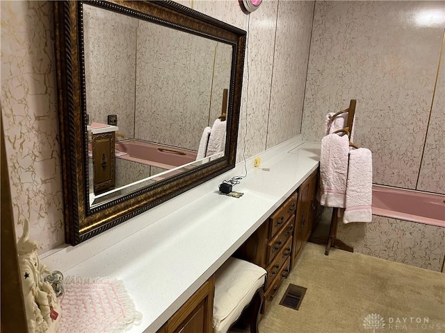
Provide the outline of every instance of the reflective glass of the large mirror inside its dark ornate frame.
{"type": "MultiPolygon", "coordinates": [[[[227,111],[223,91],[230,85],[232,45],[82,6],[86,110],[93,125],[89,197],[95,207],[210,160],[197,160],[197,151],[204,128],[227,111]],[[101,161],[113,160],[115,179],[96,187],[102,169],[93,165],[92,148],[103,144],[105,137],[96,133],[110,115],[117,116],[109,152],[115,158],[104,154],[101,161]]],[[[216,153],[212,160],[224,155],[224,147],[216,153]]]]}

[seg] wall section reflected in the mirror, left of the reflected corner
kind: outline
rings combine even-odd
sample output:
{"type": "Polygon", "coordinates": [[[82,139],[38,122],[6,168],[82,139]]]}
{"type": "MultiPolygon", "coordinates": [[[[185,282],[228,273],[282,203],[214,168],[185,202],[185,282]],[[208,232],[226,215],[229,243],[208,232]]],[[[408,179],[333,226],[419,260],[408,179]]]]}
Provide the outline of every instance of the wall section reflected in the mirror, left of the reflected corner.
{"type": "Polygon", "coordinates": [[[108,114],[117,114],[119,133],[131,139],[138,19],[84,4],[83,22],[90,123],[107,123],[108,114]]]}

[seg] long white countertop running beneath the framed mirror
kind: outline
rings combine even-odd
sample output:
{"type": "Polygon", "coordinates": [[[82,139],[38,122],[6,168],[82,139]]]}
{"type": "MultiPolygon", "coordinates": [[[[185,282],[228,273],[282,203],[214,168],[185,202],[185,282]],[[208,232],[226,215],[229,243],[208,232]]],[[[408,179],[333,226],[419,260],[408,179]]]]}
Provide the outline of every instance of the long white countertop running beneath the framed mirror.
{"type": "Polygon", "coordinates": [[[143,314],[129,331],[156,332],[318,167],[320,144],[290,139],[247,160],[248,175],[234,191],[218,194],[224,180],[244,173],[243,163],[209,182],[99,234],[45,257],[65,276],[112,277],[143,314]]]}

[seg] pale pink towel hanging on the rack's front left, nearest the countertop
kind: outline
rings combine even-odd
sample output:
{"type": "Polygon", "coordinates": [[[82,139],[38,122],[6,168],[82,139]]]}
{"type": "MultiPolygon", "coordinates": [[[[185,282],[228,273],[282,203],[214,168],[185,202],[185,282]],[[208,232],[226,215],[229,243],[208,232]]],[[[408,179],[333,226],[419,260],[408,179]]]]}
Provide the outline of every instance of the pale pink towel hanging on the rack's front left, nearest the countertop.
{"type": "Polygon", "coordinates": [[[348,176],[348,135],[326,135],[321,139],[320,203],[327,207],[345,207],[348,176]]]}

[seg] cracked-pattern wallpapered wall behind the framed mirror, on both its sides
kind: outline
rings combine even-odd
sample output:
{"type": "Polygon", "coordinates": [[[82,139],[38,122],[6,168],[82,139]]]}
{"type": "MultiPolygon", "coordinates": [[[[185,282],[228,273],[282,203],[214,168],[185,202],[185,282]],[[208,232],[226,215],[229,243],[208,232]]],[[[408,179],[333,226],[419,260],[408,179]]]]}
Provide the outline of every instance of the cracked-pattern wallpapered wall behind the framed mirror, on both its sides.
{"type": "MultiPolygon", "coordinates": [[[[250,15],[233,0],[180,2],[248,31],[238,162],[297,134],[314,2],[263,1],[250,15]]],[[[1,115],[16,230],[22,234],[28,218],[40,253],[64,243],[53,5],[0,5],[1,115]]]]}

